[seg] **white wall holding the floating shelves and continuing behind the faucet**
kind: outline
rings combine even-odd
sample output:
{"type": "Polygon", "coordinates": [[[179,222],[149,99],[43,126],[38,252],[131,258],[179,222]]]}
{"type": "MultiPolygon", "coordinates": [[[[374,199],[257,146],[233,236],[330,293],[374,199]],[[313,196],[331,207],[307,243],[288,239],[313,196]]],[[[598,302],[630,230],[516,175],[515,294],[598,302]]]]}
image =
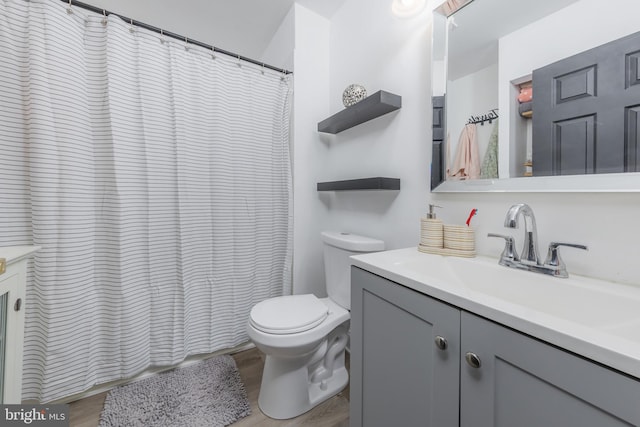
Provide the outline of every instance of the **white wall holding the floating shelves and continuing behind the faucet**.
{"type": "MultiPolygon", "coordinates": [[[[603,7],[600,2],[595,10],[604,11],[603,7]]],[[[419,218],[427,203],[444,206],[440,217],[451,223],[463,223],[469,211],[477,208],[473,220],[477,250],[497,258],[503,242],[486,234],[513,234],[520,247],[523,231],[505,229],[503,221],[512,204],[523,202],[536,213],[543,254],[551,240],[583,243],[589,246],[588,252],[562,249],[570,272],[640,284],[640,262],[636,259],[640,193],[428,192],[430,17],[425,14],[400,20],[389,8],[387,0],[348,0],[331,20],[330,105],[331,112],[338,111],[342,89],[359,82],[371,92],[385,89],[402,95],[403,108],[397,114],[325,138],[329,153],[323,159],[322,175],[327,180],[399,176],[402,188],[397,194],[321,196],[328,207],[324,226],[379,237],[389,248],[400,248],[417,244],[419,218]]],[[[620,14],[601,13],[601,17],[603,26],[615,26],[620,14]]],[[[562,36],[555,33],[557,38],[562,36]]]]}

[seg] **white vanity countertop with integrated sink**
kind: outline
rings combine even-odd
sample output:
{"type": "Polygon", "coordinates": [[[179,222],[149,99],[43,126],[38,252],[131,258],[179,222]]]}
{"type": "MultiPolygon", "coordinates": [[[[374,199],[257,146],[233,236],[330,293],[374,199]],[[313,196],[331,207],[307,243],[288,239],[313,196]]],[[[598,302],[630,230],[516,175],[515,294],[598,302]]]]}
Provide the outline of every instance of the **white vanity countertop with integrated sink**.
{"type": "MultiPolygon", "coordinates": [[[[640,378],[640,286],[581,276],[554,278],[499,266],[497,259],[454,259],[417,248],[351,260],[371,273],[640,378]],[[476,267],[491,273],[484,288],[469,283],[476,267]]],[[[482,280],[482,274],[477,277],[482,280]]]]}

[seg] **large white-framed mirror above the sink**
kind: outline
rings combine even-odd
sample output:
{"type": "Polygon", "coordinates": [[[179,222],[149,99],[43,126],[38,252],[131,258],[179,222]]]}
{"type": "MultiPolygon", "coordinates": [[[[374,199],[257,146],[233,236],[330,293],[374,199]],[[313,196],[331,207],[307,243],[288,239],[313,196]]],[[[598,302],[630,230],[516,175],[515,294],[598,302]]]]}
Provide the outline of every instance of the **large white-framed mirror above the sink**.
{"type": "MultiPolygon", "coordinates": [[[[640,135],[640,120],[633,119],[636,110],[640,117],[640,84],[625,101],[633,108],[623,109],[633,114],[621,122],[605,113],[557,120],[546,103],[557,96],[553,100],[565,103],[566,110],[573,99],[602,98],[606,88],[590,89],[590,84],[611,80],[603,74],[608,65],[571,63],[578,71],[564,74],[552,67],[585,51],[603,56],[602,49],[622,38],[633,38],[631,46],[640,52],[640,35],[627,37],[640,31],[638,13],[637,0],[446,0],[436,8],[432,191],[640,191],[640,167],[626,163],[638,156],[640,142],[631,153],[625,136],[631,134],[628,127],[640,135]],[[599,96],[591,96],[596,90],[599,96]],[[609,133],[594,133],[603,129],[609,133]],[[582,138],[591,148],[555,142],[569,137],[582,138]],[[605,142],[621,147],[617,157],[602,148],[605,142]],[[610,164],[587,158],[589,150],[599,153],[597,162],[610,164]],[[443,182],[434,187],[439,179],[443,182]]],[[[624,67],[627,77],[640,82],[640,54],[634,55],[627,54],[631,59],[624,67]]]]}

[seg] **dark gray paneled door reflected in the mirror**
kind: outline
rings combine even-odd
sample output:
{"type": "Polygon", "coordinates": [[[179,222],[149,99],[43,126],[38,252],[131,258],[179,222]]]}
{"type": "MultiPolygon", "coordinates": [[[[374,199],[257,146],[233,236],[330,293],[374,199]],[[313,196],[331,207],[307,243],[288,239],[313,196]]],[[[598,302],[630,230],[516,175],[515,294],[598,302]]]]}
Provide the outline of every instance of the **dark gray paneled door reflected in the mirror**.
{"type": "Polygon", "coordinates": [[[533,71],[533,174],[640,170],[640,33],[533,71]]]}

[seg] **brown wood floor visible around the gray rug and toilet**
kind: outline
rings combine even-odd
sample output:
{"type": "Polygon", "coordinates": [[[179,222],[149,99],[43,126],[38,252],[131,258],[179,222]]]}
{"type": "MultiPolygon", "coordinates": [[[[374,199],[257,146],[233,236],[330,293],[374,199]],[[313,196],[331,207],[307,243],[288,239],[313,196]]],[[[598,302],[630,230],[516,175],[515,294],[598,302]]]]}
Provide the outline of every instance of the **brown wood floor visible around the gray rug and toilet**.
{"type": "MultiPolygon", "coordinates": [[[[251,349],[233,355],[240,376],[244,382],[249,402],[251,403],[251,415],[236,423],[233,427],[348,427],[349,426],[349,387],[337,396],[332,397],[323,404],[316,406],[306,414],[290,420],[273,420],[260,412],[258,408],[258,392],[262,380],[262,367],[264,356],[257,349],[251,349]]],[[[348,365],[347,353],[347,367],[348,365]]],[[[97,394],[76,402],[69,407],[70,427],[97,427],[100,420],[100,412],[104,405],[107,393],[97,394]]],[[[124,426],[123,426],[124,427],[124,426]]],[[[171,427],[171,426],[166,426],[171,427]]],[[[179,427],[179,426],[176,426],[179,427]]]]}

